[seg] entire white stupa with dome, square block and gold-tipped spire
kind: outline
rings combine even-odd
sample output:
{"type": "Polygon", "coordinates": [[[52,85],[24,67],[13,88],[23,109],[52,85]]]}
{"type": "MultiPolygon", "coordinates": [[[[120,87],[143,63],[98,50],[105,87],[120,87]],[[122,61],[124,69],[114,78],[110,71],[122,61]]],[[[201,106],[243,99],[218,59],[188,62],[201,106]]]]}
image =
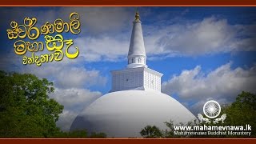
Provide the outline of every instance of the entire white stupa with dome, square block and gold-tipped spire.
{"type": "Polygon", "coordinates": [[[82,110],[70,130],[103,132],[108,137],[141,137],[147,125],[165,130],[164,122],[194,120],[185,106],[161,93],[162,74],[146,66],[142,22],[138,12],[130,39],[128,65],[112,71],[112,89],[82,110]]]}

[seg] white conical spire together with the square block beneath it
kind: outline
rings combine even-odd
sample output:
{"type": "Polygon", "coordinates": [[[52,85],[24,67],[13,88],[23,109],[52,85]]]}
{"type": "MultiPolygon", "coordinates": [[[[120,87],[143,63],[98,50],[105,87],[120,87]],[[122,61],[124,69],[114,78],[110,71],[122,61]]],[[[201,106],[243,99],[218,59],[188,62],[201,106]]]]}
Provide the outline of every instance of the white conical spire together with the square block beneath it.
{"type": "Polygon", "coordinates": [[[146,52],[142,34],[142,22],[138,10],[133,22],[128,53],[128,65],[124,70],[112,70],[112,89],[122,90],[157,90],[161,92],[162,74],[146,66],[146,52]]]}

